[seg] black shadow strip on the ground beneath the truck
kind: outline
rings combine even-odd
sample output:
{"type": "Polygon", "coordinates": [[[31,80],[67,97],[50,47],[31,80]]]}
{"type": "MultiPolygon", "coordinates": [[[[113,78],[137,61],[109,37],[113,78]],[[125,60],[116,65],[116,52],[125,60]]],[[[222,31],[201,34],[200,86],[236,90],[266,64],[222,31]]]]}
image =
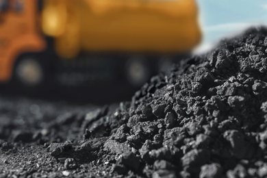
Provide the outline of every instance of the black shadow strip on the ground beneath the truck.
{"type": "Polygon", "coordinates": [[[92,103],[93,105],[108,105],[119,103],[120,101],[129,101],[133,94],[139,88],[133,88],[129,84],[117,82],[116,84],[97,84],[92,86],[64,86],[53,85],[41,90],[21,90],[10,84],[1,84],[1,96],[12,96],[19,98],[21,96],[29,99],[44,101],[66,101],[75,105],[92,103]]]}

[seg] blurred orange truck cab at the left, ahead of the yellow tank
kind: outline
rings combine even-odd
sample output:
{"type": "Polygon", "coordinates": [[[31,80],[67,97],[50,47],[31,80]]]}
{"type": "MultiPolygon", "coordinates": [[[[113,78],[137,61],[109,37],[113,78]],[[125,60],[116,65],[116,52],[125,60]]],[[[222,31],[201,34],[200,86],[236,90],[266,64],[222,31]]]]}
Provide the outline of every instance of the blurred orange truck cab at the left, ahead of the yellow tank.
{"type": "MultiPolygon", "coordinates": [[[[18,58],[46,47],[38,22],[38,1],[0,1],[0,81],[10,81],[18,58]]],[[[26,70],[27,71],[27,70],[26,70]]],[[[30,70],[28,70],[30,71],[30,70]]],[[[28,72],[29,73],[29,72],[28,72]]],[[[29,74],[28,74],[29,75],[29,74]]]]}

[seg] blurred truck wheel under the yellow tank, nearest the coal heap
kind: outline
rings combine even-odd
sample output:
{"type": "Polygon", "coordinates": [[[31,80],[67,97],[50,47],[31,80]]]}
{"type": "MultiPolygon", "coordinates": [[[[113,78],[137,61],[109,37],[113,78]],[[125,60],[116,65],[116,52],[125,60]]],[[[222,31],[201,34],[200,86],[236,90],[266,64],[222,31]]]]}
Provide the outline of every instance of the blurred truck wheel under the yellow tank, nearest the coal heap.
{"type": "Polygon", "coordinates": [[[131,86],[140,87],[151,77],[149,62],[142,57],[129,58],[125,66],[127,81],[131,86]]]}

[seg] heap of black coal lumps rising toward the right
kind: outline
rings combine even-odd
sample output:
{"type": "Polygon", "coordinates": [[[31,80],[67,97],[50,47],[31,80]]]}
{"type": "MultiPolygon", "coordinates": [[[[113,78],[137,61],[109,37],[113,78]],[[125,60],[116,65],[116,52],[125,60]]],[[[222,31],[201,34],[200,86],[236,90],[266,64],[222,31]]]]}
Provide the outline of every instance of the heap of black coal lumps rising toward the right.
{"type": "Polygon", "coordinates": [[[153,77],[108,125],[112,171],[267,177],[266,72],[267,29],[255,27],[153,77]]]}

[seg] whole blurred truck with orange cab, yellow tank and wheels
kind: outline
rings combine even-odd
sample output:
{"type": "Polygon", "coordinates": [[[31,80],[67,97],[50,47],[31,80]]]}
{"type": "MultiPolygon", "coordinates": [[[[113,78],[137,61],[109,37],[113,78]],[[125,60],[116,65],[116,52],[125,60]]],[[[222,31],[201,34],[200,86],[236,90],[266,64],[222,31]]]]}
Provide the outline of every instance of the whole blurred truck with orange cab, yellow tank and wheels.
{"type": "Polygon", "coordinates": [[[65,64],[90,68],[99,61],[116,63],[123,68],[113,68],[116,75],[140,85],[164,59],[190,53],[201,41],[194,0],[2,0],[0,6],[0,81],[26,86],[44,84],[65,64]]]}

